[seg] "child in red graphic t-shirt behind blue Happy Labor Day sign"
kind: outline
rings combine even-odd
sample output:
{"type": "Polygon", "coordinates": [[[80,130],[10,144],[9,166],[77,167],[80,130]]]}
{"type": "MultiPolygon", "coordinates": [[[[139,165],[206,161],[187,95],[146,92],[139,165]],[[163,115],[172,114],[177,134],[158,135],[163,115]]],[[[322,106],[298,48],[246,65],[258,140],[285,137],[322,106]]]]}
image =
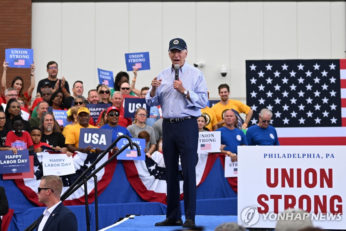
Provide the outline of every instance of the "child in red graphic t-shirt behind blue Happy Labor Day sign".
{"type": "Polygon", "coordinates": [[[28,149],[29,152],[34,152],[34,143],[30,138],[30,134],[26,131],[23,131],[24,119],[20,115],[14,116],[12,118],[12,128],[13,131],[9,131],[7,134],[5,147],[14,147],[17,150],[28,149]]]}

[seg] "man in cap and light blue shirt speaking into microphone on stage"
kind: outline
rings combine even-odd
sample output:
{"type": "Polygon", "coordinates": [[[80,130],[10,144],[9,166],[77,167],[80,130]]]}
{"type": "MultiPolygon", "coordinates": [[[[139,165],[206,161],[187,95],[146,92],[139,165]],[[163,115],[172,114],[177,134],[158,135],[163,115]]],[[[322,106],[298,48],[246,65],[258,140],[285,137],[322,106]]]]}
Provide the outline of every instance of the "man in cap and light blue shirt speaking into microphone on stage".
{"type": "Polygon", "coordinates": [[[196,155],[198,124],[196,117],[206,107],[207,85],[202,72],[185,62],[188,55],[183,39],[170,41],[169,57],[172,65],[152,81],[146,102],[149,106],[161,105],[163,159],[166,166],[167,214],[155,226],[195,227],[196,213],[196,155]],[[179,69],[176,66],[179,64],[179,69]],[[175,80],[175,66],[179,72],[175,80]],[[183,175],[185,222],[181,219],[179,156],[183,175]]]}

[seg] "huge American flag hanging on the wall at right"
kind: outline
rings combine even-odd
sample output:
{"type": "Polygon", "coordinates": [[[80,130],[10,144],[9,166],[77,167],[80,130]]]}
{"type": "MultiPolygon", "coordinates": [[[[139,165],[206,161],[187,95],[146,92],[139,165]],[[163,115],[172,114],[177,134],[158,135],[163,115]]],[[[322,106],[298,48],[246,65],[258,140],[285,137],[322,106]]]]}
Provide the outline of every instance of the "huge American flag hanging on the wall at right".
{"type": "Polygon", "coordinates": [[[346,60],[247,60],[249,126],[263,108],[280,144],[346,144],[346,60]]]}

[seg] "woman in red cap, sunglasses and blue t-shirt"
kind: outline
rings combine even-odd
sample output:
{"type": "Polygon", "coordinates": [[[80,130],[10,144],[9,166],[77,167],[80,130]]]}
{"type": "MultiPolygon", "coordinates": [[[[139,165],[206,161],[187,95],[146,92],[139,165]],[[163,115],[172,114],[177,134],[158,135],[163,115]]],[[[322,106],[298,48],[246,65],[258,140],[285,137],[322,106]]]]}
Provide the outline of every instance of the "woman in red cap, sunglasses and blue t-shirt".
{"type": "MultiPolygon", "coordinates": [[[[117,107],[107,108],[107,124],[100,127],[100,129],[112,130],[112,142],[115,141],[119,135],[128,135],[132,138],[131,133],[126,129],[126,127],[118,125],[120,111],[117,107]]],[[[117,146],[114,146],[111,153],[114,154],[119,151],[117,146]]]]}

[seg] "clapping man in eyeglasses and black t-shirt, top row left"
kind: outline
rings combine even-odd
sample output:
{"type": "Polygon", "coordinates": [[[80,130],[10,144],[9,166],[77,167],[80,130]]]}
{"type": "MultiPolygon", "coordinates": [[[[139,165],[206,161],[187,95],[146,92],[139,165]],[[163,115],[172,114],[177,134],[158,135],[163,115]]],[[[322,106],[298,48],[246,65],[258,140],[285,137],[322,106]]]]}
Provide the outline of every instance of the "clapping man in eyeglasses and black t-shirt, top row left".
{"type": "MultiPolygon", "coordinates": [[[[43,87],[44,82],[50,82],[53,88],[53,93],[58,89],[61,90],[65,96],[65,98],[71,96],[70,95],[70,87],[69,83],[65,80],[64,77],[61,79],[57,78],[58,75],[58,64],[54,61],[50,61],[47,63],[47,73],[48,77],[45,79],[41,79],[37,84],[37,92],[42,94],[41,88],[43,87]]],[[[37,93],[36,92],[36,93],[37,93]]]]}

